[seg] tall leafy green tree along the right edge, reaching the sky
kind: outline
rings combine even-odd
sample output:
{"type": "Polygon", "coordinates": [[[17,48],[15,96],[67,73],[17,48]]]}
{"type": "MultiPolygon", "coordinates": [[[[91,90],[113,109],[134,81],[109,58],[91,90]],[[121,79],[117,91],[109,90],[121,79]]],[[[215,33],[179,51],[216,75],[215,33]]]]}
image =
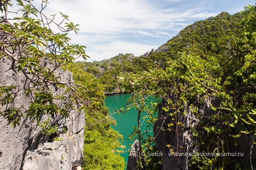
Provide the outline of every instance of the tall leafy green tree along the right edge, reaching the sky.
{"type": "MultiPolygon", "coordinates": [[[[251,139],[249,160],[250,168],[254,169],[252,150],[256,144],[256,6],[246,6],[241,14],[245,16],[240,22],[242,34],[234,37],[236,48],[229,51],[231,57],[224,74],[226,76],[223,76],[225,91],[218,93],[222,97],[223,107],[212,109],[230,116],[229,120],[224,120],[227,125],[225,130],[233,131],[233,137],[251,139]]],[[[241,169],[243,163],[238,162],[235,167],[241,169]]]]}

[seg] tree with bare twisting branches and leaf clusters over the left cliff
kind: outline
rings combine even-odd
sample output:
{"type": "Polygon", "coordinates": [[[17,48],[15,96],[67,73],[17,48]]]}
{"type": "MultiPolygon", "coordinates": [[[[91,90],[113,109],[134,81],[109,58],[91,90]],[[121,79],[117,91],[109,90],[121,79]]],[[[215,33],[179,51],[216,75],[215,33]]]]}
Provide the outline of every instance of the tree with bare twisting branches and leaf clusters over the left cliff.
{"type": "Polygon", "coordinates": [[[99,109],[104,96],[98,80],[83,86],[73,81],[65,82],[56,76],[63,65],[78,57],[89,57],[85,46],[69,44],[67,32],[77,33],[79,25],[69,22],[68,16],[62,13],[60,23],[55,22],[56,14],[48,18],[43,13],[48,0],[42,1],[40,9],[31,0],[14,2],[20,7],[18,11],[9,11],[12,6],[10,0],[0,3],[0,10],[5,14],[0,21],[0,55],[10,63],[9,70],[24,76],[25,80],[18,86],[0,86],[0,114],[15,127],[24,116],[39,121],[44,114],[67,117],[69,109],[75,106],[79,111],[95,112],[99,109]],[[11,12],[23,14],[7,18],[11,12]],[[55,26],[62,33],[54,33],[51,27],[55,26]],[[29,107],[24,103],[16,107],[17,95],[24,95],[29,107]]]}

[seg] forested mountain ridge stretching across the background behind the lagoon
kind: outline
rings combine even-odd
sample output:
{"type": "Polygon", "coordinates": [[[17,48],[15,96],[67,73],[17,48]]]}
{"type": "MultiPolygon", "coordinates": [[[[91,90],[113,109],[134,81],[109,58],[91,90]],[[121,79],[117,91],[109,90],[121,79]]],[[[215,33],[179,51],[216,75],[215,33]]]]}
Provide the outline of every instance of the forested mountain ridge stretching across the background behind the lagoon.
{"type": "Polygon", "coordinates": [[[120,72],[138,73],[149,69],[164,69],[168,66],[169,59],[177,52],[189,52],[202,58],[217,56],[220,60],[226,60],[222,57],[228,55],[225,48],[232,48],[234,46],[232,37],[241,34],[241,18],[240,13],[230,15],[222,12],[216,17],[188,25],[161,47],[142,56],[118,54],[111,59],[77,64],[102,81],[106,86],[105,93],[114,93],[119,85],[117,76],[120,72]]]}

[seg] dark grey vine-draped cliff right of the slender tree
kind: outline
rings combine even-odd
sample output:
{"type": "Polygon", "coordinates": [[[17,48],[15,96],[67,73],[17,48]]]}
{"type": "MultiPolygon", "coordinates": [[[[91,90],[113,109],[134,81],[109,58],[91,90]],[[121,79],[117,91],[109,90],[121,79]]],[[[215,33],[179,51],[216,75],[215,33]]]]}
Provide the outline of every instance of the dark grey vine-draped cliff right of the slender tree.
{"type": "MultiPolygon", "coordinates": [[[[220,105],[220,102],[214,98],[208,98],[207,102],[202,103],[200,107],[200,114],[204,116],[210,115],[214,113],[213,110],[210,110],[207,104],[212,103],[213,105],[220,105]]],[[[199,119],[194,115],[188,108],[185,110],[188,112],[185,114],[185,117],[179,115],[180,122],[184,122],[184,130],[179,127],[173,127],[176,131],[172,130],[169,131],[168,124],[172,122],[172,118],[170,115],[171,111],[164,111],[162,107],[166,107],[166,101],[163,100],[158,112],[159,119],[154,124],[154,137],[156,148],[158,152],[162,152],[163,157],[163,170],[170,170],[170,169],[190,169],[189,167],[189,157],[186,156],[169,156],[170,148],[167,145],[176,146],[178,145],[178,150],[174,149],[174,152],[178,153],[192,153],[192,152],[199,152],[199,147],[194,145],[197,143],[197,139],[193,136],[190,128],[195,127],[199,124],[199,119]],[[162,129],[165,129],[164,131],[162,129]],[[177,144],[178,140],[178,144],[177,144]],[[181,147],[182,146],[182,147],[181,147]],[[171,168],[170,168],[171,167],[171,168]]]]}

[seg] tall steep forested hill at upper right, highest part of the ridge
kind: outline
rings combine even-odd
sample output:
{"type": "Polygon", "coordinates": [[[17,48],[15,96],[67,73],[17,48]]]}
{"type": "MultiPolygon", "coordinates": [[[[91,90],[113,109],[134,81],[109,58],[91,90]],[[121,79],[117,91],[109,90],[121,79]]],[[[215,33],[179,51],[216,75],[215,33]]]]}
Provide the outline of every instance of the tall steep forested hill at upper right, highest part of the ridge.
{"type": "Polygon", "coordinates": [[[188,25],[164,45],[169,47],[168,54],[171,56],[184,51],[202,58],[225,56],[225,48],[234,45],[232,37],[241,34],[241,18],[240,13],[230,15],[222,12],[216,17],[188,25]]]}

